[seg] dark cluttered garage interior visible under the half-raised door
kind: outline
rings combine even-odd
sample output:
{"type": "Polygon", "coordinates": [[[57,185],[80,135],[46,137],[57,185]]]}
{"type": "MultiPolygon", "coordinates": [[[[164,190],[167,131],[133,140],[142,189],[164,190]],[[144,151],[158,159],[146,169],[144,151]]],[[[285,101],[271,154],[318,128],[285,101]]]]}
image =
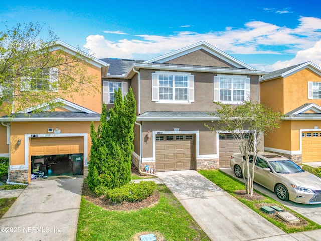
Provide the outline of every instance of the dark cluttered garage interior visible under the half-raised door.
{"type": "Polygon", "coordinates": [[[36,177],[83,175],[83,154],[31,156],[31,174],[36,177]]]}

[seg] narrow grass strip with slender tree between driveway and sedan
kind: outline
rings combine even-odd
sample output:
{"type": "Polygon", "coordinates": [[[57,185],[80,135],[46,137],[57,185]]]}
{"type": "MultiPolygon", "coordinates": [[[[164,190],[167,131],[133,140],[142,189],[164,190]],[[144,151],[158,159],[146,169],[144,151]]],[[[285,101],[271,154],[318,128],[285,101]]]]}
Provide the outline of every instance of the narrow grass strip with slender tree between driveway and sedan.
{"type": "Polygon", "coordinates": [[[286,206],[283,206],[278,201],[276,201],[276,200],[274,200],[274,199],[272,199],[272,198],[260,193],[259,191],[255,190],[257,193],[259,193],[259,194],[261,194],[262,196],[265,197],[264,200],[250,201],[250,200],[238,197],[235,194],[235,191],[236,190],[244,190],[245,189],[244,183],[242,183],[241,181],[235,179],[234,177],[229,176],[228,174],[226,174],[226,173],[224,173],[224,172],[222,172],[220,170],[205,170],[205,171],[199,171],[199,173],[201,173],[203,176],[208,178],[210,181],[212,181],[213,183],[215,183],[216,185],[218,185],[219,187],[221,187],[222,189],[227,191],[232,196],[236,197],[239,201],[241,201],[242,203],[247,205],[249,208],[251,208],[252,210],[257,212],[258,214],[260,214],[262,217],[264,217],[265,219],[269,220],[274,225],[276,225],[279,228],[281,228],[286,233],[309,231],[309,230],[315,230],[315,229],[321,228],[321,225],[319,225],[319,224],[317,224],[317,223],[315,223],[315,222],[303,217],[302,215],[300,215],[298,213],[295,213],[294,211],[292,211],[291,209],[287,208],[286,206]],[[279,221],[279,220],[273,218],[271,215],[262,212],[256,206],[256,204],[259,204],[259,203],[264,203],[267,206],[277,205],[277,206],[281,207],[282,209],[284,209],[285,211],[289,211],[289,212],[295,214],[297,217],[301,217],[302,219],[305,220],[306,223],[304,225],[297,225],[297,226],[295,226],[295,225],[292,225],[292,226],[291,225],[285,225],[282,221],[279,221]]]}

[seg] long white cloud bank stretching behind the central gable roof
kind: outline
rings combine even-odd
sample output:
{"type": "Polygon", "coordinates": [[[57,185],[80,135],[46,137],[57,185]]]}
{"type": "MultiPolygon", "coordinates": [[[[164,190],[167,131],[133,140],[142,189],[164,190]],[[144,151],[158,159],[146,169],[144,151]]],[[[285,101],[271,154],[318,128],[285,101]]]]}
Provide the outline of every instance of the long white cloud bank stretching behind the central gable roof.
{"type": "MultiPolygon", "coordinates": [[[[257,69],[275,70],[279,66],[290,66],[292,63],[318,61],[321,39],[321,19],[300,17],[296,28],[277,26],[263,21],[251,21],[243,28],[226,27],[224,31],[197,33],[191,31],[173,32],[169,36],[135,35],[111,41],[103,35],[90,35],[84,46],[98,58],[135,58],[149,59],[194,44],[206,41],[228,54],[294,54],[293,60],[278,61],[274,65],[254,65],[257,69]],[[310,52],[309,52],[310,51],[310,52]],[[141,56],[148,56],[141,58],[141,56]],[[303,57],[306,60],[303,60],[303,57]]],[[[110,31],[109,31],[110,32],[110,31]]],[[[115,31],[122,33],[121,31],[115,31]]],[[[295,64],[294,63],[294,64],[295,64]]]]}

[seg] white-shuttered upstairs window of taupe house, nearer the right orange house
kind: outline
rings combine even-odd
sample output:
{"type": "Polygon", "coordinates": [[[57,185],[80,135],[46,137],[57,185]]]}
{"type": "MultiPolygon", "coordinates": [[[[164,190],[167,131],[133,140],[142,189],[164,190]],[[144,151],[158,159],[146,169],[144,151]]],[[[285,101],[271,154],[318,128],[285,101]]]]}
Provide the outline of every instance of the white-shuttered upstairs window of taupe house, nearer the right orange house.
{"type": "Polygon", "coordinates": [[[250,99],[250,78],[246,76],[214,76],[214,101],[239,104],[250,99]]]}

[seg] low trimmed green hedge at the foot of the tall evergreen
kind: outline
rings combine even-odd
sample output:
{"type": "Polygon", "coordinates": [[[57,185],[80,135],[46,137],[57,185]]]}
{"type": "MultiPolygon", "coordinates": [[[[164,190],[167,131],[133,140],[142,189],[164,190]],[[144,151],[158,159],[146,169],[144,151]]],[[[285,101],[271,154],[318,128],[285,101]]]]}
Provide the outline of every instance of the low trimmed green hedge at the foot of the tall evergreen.
{"type": "MultiPolygon", "coordinates": [[[[114,204],[123,201],[139,202],[154,194],[156,183],[153,181],[131,182],[122,187],[105,190],[105,198],[114,204]]],[[[100,190],[103,190],[101,188],[100,190]]]]}

